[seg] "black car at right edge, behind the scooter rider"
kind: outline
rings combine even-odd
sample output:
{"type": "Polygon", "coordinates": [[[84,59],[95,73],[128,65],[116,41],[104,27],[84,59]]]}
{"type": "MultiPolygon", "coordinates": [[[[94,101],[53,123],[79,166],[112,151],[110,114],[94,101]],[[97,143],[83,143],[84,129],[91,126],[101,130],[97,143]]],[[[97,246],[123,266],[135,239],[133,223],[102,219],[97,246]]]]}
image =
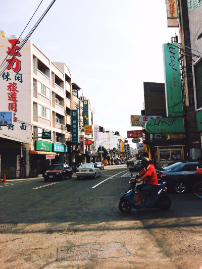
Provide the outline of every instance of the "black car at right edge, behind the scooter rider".
{"type": "Polygon", "coordinates": [[[193,185],[202,180],[200,175],[196,175],[198,162],[177,162],[169,166],[157,169],[158,181],[166,181],[169,191],[175,193],[186,193],[193,190],[193,185]]]}

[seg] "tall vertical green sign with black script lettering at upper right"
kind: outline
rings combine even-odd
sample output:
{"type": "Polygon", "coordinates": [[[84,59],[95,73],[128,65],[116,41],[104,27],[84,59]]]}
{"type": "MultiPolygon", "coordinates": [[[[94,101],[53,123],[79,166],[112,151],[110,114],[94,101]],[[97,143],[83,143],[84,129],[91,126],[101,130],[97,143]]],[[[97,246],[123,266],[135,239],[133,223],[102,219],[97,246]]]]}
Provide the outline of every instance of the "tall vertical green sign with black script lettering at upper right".
{"type": "Polygon", "coordinates": [[[167,117],[183,114],[177,45],[163,44],[167,117]]]}

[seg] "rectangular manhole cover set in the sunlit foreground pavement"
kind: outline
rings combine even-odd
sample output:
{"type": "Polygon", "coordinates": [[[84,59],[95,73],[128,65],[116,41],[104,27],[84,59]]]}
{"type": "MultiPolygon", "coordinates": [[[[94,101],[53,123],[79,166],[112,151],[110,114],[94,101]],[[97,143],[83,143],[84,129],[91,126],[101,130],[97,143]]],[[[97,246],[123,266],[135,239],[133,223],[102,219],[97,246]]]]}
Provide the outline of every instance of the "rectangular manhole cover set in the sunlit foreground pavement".
{"type": "Polygon", "coordinates": [[[65,246],[57,250],[58,261],[118,258],[130,255],[128,248],[121,243],[65,246]]]}

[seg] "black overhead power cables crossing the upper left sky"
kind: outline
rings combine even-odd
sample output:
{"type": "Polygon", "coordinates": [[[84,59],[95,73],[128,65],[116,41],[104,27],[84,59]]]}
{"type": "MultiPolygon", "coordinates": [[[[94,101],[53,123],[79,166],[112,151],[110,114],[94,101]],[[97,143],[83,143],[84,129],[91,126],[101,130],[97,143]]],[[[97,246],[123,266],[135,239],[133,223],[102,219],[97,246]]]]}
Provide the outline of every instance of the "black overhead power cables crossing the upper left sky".
{"type": "MultiPolygon", "coordinates": [[[[42,1],[41,1],[42,2],[42,1]]],[[[37,26],[39,25],[39,23],[42,21],[42,19],[45,17],[45,15],[48,13],[48,11],[51,9],[51,7],[53,6],[53,4],[56,2],[56,0],[53,0],[52,1],[52,3],[47,7],[47,9],[44,11],[44,13],[41,15],[41,17],[38,19],[38,21],[36,22],[36,24],[33,26],[33,28],[30,30],[30,32],[27,34],[27,36],[24,38],[24,40],[22,41],[22,43],[19,45],[19,49],[18,49],[18,51],[16,52],[16,53],[18,53],[20,50],[21,50],[21,48],[25,45],[25,43],[27,42],[27,40],[29,39],[29,37],[32,35],[32,33],[35,31],[35,29],[37,28],[37,26]]],[[[41,3],[40,3],[41,4],[41,3]]],[[[40,5],[39,5],[40,6],[40,5]]],[[[37,8],[38,9],[38,8],[37,8]]],[[[33,15],[34,16],[34,15],[33,15]]],[[[32,17],[33,17],[32,16],[32,17]]],[[[31,19],[30,19],[31,20],[31,19]]],[[[26,26],[27,27],[27,26],[26,26]]],[[[26,28],[25,27],[25,28],[26,28]]],[[[24,31],[24,30],[23,30],[24,31]]],[[[18,40],[19,40],[19,38],[18,38],[18,40]]],[[[17,43],[17,42],[16,42],[17,43]]],[[[15,44],[16,44],[15,43],[15,44]]],[[[12,55],[12,57],[13,57],[13,55],[12,55]]],[[[7,59],[7,57],[6,57],[6,59],[7,59]]],[[[6,59],[4,60],[4,62],[6,61],[6,59]]],[[[6,63],[2,63],[2,65],[1,65],[1,67],[3,67],[4,65],[5,65],[6,63]]],[[[0,76],[2,76],[2,74],[4,73],[4,71],[7,69],[7,67],[8,67],[8,65],[9,65],[9,63],[8,64],[6,64],[6,66],[3,68],[3,70],[1,70],[0,72],[1,72],[1,74],[0,74],[0,76]]]]}

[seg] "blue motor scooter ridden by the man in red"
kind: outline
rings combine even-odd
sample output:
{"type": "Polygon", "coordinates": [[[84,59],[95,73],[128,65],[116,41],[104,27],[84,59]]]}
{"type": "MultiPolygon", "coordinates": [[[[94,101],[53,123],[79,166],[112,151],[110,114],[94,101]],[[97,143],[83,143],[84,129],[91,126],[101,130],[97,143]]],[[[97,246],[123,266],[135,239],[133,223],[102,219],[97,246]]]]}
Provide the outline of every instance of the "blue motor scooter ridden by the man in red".
{"type": "Polygon", "coordinates": [[[166,182],[157,185],[156,190],[145,196],[141,205],[135,204],[136,201],[134,199],[136,179],[131,178],[129,183],[131,184],[130,187],[120,198],[119,210],[121,212],[128,213],[132,208],[160,208],[162,210],[170,208],[171,198],[166,188],[166,182]]]}

